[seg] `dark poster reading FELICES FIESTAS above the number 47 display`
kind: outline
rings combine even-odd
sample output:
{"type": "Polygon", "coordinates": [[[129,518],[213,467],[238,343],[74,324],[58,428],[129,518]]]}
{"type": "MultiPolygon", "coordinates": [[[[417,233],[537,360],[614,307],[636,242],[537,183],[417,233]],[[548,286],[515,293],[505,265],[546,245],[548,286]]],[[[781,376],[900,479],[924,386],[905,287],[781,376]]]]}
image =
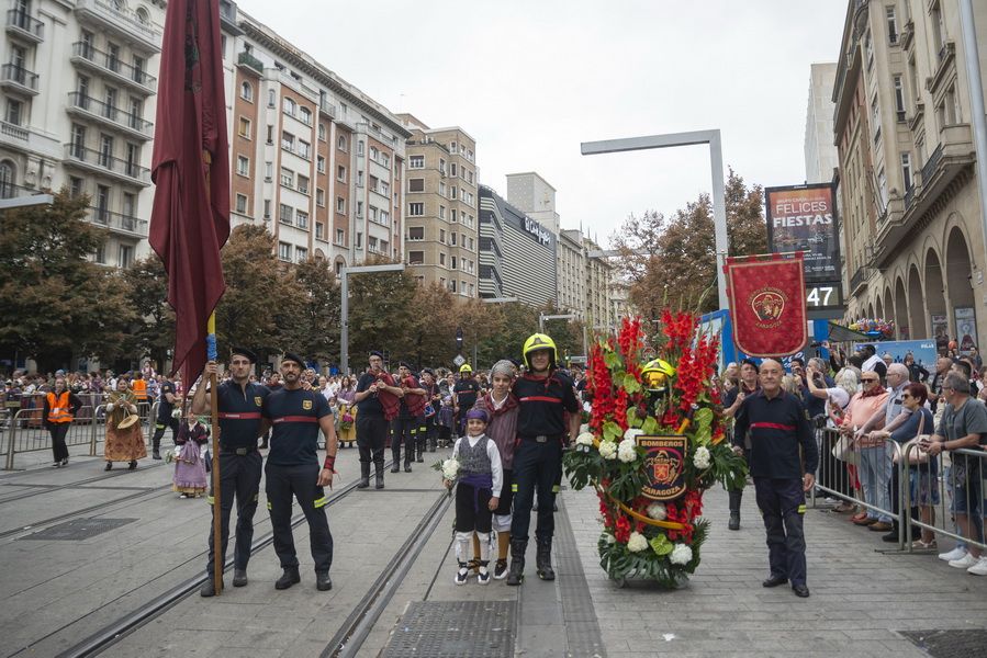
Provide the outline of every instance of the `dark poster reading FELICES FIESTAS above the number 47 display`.
{"type": "Polygon", "coordinates": [[[767,248],[805,251],[806,283],[841,281],[835,190],[831,183],[765,188],[767,248]]]}

